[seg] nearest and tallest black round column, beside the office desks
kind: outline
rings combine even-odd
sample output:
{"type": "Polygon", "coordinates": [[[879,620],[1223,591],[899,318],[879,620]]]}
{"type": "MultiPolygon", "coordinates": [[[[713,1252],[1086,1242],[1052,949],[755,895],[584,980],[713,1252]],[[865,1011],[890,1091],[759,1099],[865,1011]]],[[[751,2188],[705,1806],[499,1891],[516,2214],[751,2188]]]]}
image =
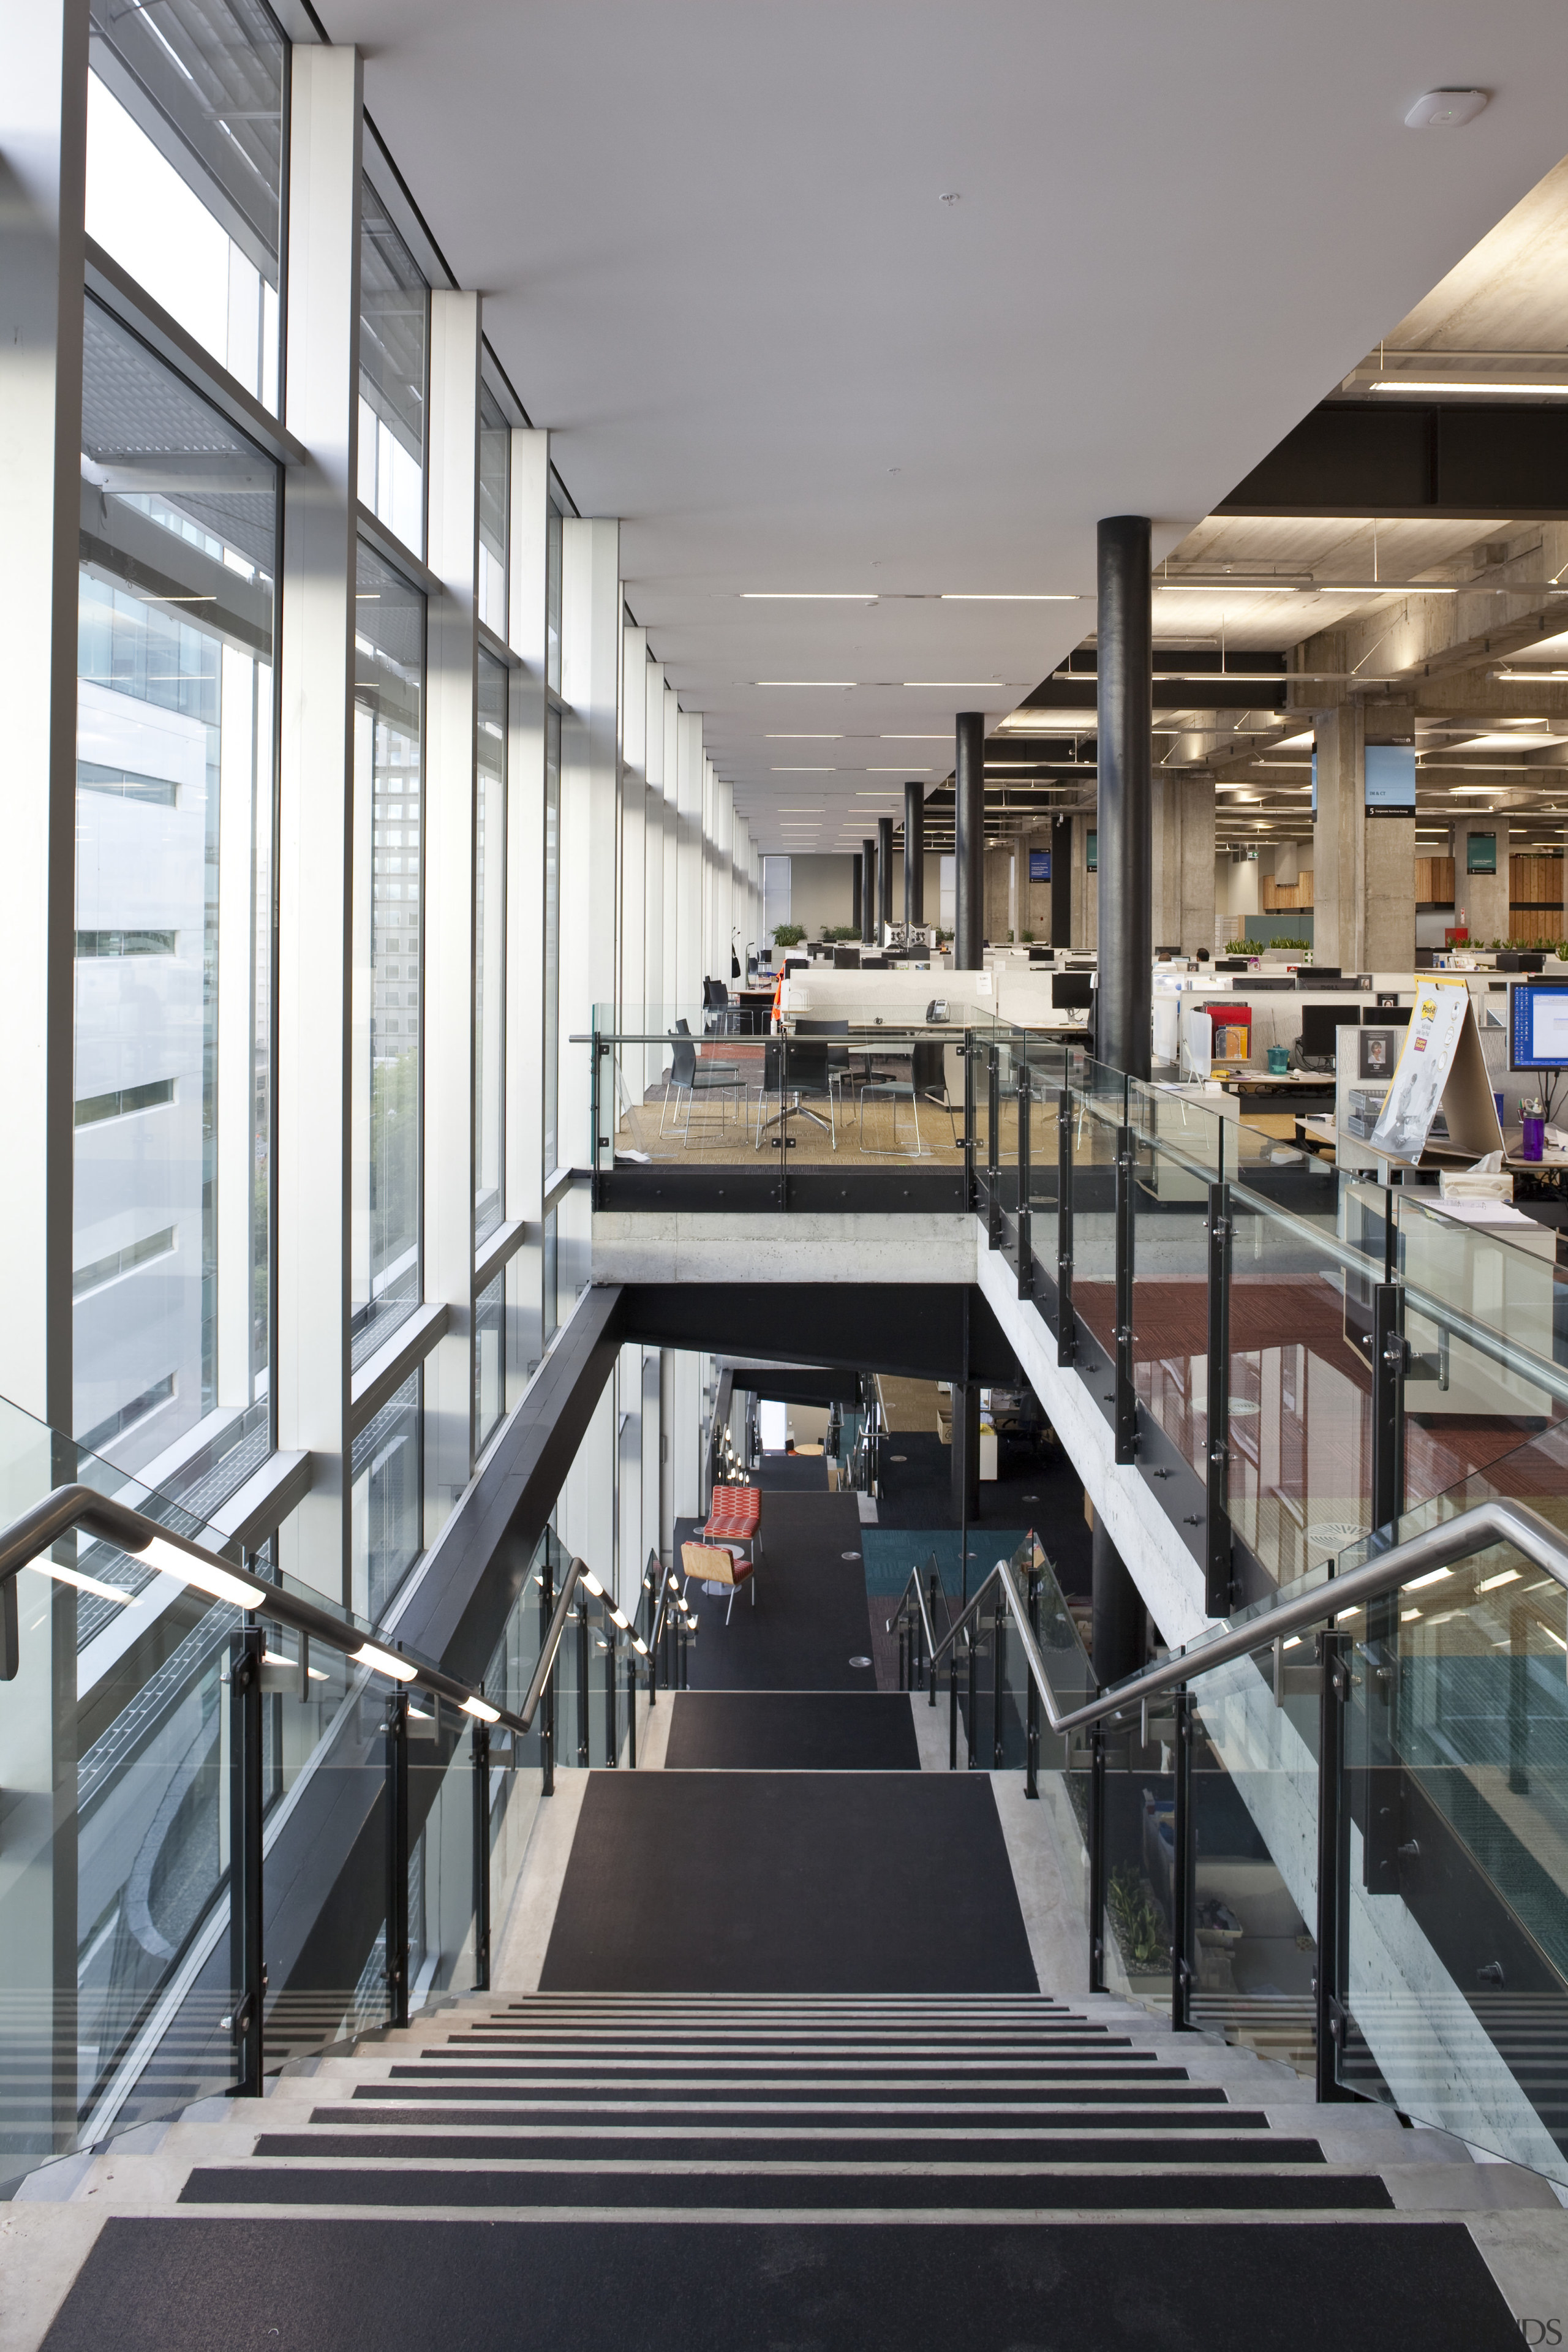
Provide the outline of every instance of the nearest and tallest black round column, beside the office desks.
{"type": "Polygon", "coordinates": [[[1147,515],[1112,515],[1100,522],[1098,590],[1100,1002],[1095,1051],[1112,1068],[1147,1080],[1154,962],[1154,626],[1150,616],[1147,515]]]}

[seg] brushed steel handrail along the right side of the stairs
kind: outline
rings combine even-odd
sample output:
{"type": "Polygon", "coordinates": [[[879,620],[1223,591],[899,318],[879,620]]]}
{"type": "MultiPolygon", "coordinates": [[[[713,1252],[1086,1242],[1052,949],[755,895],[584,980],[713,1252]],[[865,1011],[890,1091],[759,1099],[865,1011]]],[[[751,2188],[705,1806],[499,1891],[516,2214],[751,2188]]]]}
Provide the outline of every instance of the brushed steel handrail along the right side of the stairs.
{"type": "MultiPolygon", "coordinates": [[[[1429,1576],[1432,1569],[1450,1569],[1460,1559],[1469,1559],[1474,1552],[1486,1552],[1493,1543],[1512,1543],[1526,1555],[1526,1559],[1530,1559],[1537,1569],[1544,1569],[1547,1576],[1568,1590],[1568,1543],[1563,1543],[1559,1531],[1549,1526],[1540,1512],[1497,1496],[1488,1503],[1476,1503],[1472,1510],[1462,1510],[1453,1519],[1439,1519],[1436,1526],[1427,1526],[1418,1536],[1408,1536],[1392,1550],[1366,1559],[1359,1569],[1347,1569],[1345,1576],[1331,1576],[1326,1583],[1314,1585],[1312,1592],[1272,1602],[1244,1625],[1232,1625],[1227,1632],[1199,1642],[1197,1649],[1173,1651],[1168,1658],[1161,1658],[1159,1665],[1145,1668],[1143,1675],[1110,1684],[1081,1708],[1058,1708],[1046,1675],[1046,1661],[1039,1651],[1039,1642],[1034,1639],[1034,1628],[1030,1625],[1018,1583],[1006,1559],[999,1559],[969,1606],[954,1618],[943,1639],[931,1646],[931,1670],[936,1670],[943,1651],[947,1651],[961,1632],[969,1632],[985,1595],[992,1585],[999,1585],[1001,1592],[1006,1592],[1018,1639],[1023,1644],[1023,1656],[1034,1689],[1039,1691],[1051,1731],[1081,1731],[1088,1724],[1105,1722],[1105,1717],[1126,1715],[1128,1710],[1140,1708],[1143,1700],[1154,1698],[1157,1691],[1168,1691],[1173,1684],[1192,1682],[1197,1675],[1211,1675],[1218,1665],[1229,1665],[1232,1658],[1248,1658],[1253,1651],[1284,1642],[1286,1635],[1300,1632],[1307,1625],[1338,1618],[1345,1611],[1356,1609],[1361,1602],[1382,1599],[1385,1592],[1396,1592],[1401,1585],[1415,1583],[1418,1576],[1429,1576]]],[[[917,1576],[919,1571],[912,1571],[910,1583],[917,1583],[917,1576]]],[[[910,1585],[905,1585],[900,1602],[907,1590],[910,1585]]]]}

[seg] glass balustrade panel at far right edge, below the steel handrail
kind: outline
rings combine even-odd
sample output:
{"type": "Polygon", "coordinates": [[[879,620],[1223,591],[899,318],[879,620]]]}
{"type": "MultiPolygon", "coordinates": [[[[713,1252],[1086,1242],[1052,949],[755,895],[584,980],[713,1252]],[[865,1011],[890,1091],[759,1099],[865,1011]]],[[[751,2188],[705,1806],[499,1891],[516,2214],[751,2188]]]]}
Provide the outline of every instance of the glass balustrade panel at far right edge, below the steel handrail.
{"type": "Polygon", "coordinates": [[[1507,1545],[1342,1618],[1342,2074],[1568,2183],[1566,1595],[1507,1545]]]}

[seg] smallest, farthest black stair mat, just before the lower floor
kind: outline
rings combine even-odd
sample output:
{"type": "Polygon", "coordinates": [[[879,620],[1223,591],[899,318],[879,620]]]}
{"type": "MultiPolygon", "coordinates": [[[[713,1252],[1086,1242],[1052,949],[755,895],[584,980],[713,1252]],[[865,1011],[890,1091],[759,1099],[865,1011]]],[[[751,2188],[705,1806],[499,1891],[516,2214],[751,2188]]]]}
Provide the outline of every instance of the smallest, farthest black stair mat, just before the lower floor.
{"type": "Polygon", "coordinates": [[[665,1771],[919,1771],[919,1745],[898,1696],[677,1691],[665,1771]]]}

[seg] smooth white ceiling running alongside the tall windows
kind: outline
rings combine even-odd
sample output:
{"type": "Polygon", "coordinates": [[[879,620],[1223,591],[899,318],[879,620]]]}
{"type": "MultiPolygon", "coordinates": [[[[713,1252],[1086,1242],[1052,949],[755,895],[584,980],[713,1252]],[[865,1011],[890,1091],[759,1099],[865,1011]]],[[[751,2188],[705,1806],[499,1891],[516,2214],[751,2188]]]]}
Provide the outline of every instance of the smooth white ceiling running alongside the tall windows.
{"type": "Polygon", "coordinates": [[[1166,555],[1568,143],[1556,0],[322,7],[762,847],[1093,628],[943,590],[1166,555]],[[1434,85],[1493,103],[1406,132],[1434,85]]]}

